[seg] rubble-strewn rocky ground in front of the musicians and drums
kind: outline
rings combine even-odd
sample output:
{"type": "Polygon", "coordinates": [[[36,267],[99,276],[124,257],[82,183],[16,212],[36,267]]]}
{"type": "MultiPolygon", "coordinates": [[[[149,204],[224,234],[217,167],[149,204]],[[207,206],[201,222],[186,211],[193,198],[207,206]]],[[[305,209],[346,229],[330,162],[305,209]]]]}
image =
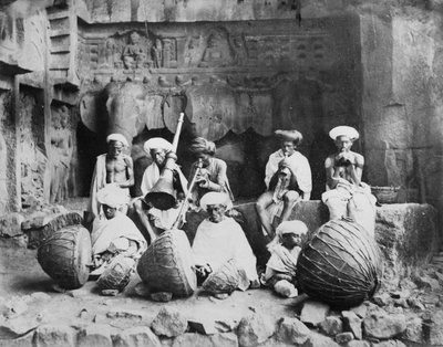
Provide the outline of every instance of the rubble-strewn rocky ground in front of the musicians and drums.
{"type": "Polygon", "coordinates": [[[68,210],[48,208],[50,213],[12,213],[0,223],[0,347],[443,346],[443,256],[394,276],[388,265],[390,280],[375,296],[346,311],[266,288],[154,301],[137,274],[116,296],[99,295],[95,282],[60,292],[27,246],[78,217],[53,219],[68,210]]]}

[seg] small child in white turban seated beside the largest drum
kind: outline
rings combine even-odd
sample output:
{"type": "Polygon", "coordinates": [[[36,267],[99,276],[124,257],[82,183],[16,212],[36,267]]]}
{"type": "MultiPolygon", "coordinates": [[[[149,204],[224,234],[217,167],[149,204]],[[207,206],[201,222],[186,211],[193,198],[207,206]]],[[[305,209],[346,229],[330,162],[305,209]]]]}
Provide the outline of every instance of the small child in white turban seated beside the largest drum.
{"type": "Polygon", "coordinates": [[[270,257],[266,264],[264,282],[285,297],[298,295],[297,261],[301,251],[302,236],[308,227],[302,221],[285,221],[276,229],[276,236],[268,244],[270,257]]]}

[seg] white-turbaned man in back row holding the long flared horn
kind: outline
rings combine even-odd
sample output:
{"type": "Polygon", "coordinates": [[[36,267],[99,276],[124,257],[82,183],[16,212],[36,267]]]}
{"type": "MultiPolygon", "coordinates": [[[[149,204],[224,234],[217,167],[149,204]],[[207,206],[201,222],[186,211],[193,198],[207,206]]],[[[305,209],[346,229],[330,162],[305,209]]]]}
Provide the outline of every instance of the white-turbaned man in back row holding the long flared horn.
{"type": "MultiPolygon", "coordinates": [[[[153,189],[161,177],[162,170],[166,165],[166,155],[172,150],[172,144],[162,137],[153,137],[144,145],[144,149],[146,154],[151,155],[153,162],[143,174],[140,187],[143,196],[134,201],[134,208],[141,222],[150,234],[151,243],[163,231],[171,229],[179,214],[179,206],[162,211],[144,200],[146,193],[153,189]]],[[[174,165],[173,186],[176,198],[183,199],[186,193],[187,180],[177,165],[174,165]]]]}

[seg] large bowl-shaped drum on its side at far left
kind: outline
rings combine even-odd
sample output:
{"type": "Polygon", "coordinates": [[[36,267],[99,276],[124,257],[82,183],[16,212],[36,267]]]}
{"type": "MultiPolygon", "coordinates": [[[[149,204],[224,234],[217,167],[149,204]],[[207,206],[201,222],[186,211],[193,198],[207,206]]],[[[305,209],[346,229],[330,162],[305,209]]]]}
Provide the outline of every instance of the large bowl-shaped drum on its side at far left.
{"type": "Polygon", "coordinates": [[[61,287],[80,288],[90,274],[90,232],[82,225],[60,229],[39,248],[37,259],[43,271],[61,287]]]}

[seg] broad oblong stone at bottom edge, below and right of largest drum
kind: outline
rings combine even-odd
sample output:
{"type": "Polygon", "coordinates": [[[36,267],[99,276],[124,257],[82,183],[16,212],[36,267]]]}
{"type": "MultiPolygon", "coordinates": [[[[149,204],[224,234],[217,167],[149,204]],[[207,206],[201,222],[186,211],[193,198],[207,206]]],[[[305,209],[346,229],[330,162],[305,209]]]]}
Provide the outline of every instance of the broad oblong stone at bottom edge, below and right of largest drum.
{"type": "Polygon", "coordinates": [[[406,329],[404,315],[390,315],[385,312],[372,312],[363,319],[364,334],[374,338],[392,338],[406,329]]]}

